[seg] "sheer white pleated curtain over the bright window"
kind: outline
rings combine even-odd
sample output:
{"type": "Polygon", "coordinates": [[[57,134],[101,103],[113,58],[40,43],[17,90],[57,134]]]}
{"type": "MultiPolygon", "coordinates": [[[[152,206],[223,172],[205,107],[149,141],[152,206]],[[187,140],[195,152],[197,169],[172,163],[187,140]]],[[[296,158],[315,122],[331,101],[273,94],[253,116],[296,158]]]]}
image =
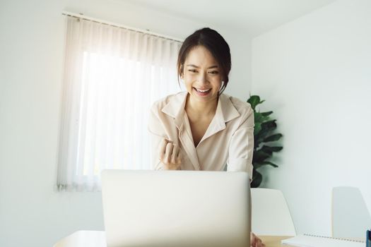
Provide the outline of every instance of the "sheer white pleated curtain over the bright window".
{"type": "Polygon", "coordinates": [[[151,104],[179,91],[180,42],[66,17],[57,188],[100,191],[102,169],[151,169],[151,104]]]}

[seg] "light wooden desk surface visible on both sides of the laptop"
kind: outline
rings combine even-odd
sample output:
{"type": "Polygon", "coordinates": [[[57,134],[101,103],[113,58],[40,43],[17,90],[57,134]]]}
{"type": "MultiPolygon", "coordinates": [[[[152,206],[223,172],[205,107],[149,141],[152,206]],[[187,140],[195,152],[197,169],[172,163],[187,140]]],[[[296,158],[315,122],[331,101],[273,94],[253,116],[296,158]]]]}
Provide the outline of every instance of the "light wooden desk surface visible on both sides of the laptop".
{"type": "MultiPolygon", "coordinates": [[[[290,236],[259,236],[266,247],[281,247],[281,240],[290,236]]],[[[58,241],[53,247],[107,247],[105,231],[76,231],[58,241]]],[[[286,246],[285,247],[290,247],[286,246]]]]}

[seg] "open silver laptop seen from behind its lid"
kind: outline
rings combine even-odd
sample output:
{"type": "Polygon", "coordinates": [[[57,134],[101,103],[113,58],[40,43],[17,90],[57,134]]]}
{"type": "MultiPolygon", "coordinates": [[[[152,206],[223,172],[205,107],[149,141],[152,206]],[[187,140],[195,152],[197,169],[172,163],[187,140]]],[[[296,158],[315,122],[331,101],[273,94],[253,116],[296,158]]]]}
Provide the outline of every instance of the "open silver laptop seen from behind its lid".
{"type": "Polygon", "coordinates": [[[102,171],[108,247],[250,246],[249,174],[102,171]]]}

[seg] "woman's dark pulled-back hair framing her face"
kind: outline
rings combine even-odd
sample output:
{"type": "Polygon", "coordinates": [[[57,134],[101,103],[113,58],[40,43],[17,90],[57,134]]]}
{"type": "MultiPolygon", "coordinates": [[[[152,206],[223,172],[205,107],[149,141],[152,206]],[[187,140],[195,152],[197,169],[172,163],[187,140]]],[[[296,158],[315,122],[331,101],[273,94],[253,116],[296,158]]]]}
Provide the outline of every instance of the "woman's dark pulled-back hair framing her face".
{"type": "Polygon", "coordinates": [[[201,28],[196,32],[189,35],[184,40],[182,47],[179,49],[177,71],[178,71],[178,82],[179,77],[182,76],[184,61],[187,58],[189,52],[196,46],[203,46],[213,55],[214,59],[218,61],[218,66],[221,68],[221,74],[223,78],[223,85],[220,88],[219,94],[221,94],[228,85],[228,74],[230,72],[230,49],[228,43],[224,40],[216,30],[211,28],[201,28]]]}

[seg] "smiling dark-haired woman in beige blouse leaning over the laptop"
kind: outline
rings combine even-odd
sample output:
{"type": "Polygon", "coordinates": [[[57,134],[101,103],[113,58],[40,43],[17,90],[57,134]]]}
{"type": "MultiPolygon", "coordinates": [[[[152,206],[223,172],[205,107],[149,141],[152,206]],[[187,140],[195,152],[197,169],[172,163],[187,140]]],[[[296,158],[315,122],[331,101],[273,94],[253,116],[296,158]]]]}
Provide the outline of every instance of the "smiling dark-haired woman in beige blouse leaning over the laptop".
{"type": "MultiPolygon", "coordinates": [[[[215,30],[202,28],[179,50],[177,72],[187,92],[153,104],[149,120],[154,169],[247,171],[252,179],[254,112],[223,94],[230,48],[215,30]]],[[[264,246],[254,234],[252,246],[264,246]]]]}

